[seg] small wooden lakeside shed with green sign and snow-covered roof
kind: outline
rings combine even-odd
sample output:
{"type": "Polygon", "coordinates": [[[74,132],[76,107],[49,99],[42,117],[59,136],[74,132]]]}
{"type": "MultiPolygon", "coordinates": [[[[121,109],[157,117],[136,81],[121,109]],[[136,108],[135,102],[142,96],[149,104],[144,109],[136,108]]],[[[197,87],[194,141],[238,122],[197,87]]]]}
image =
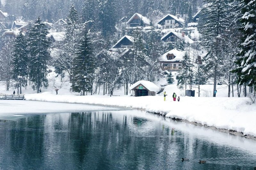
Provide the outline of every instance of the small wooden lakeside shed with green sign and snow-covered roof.
{"type": "Polygon", "coordinates": [[[135,97],[155,96],[159,87],[150,81],[140,80],[131,85],[130,90],[134,91],[135,97]]]}

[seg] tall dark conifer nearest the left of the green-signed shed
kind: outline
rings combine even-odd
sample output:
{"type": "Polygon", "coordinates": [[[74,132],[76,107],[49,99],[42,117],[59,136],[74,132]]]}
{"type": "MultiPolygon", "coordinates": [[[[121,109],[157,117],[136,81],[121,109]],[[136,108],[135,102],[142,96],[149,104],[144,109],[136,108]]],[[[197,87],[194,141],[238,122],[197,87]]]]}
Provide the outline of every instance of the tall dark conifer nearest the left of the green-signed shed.
{"type": "Polygon", "coordinates": [[[82,91],[83,95],[85,95],[85,91],[92,92],[93,73],[95,70],[94,62],[93,47],[87,33],[85,33],[74,58],[72,88],[76,92],[82,91]]]}

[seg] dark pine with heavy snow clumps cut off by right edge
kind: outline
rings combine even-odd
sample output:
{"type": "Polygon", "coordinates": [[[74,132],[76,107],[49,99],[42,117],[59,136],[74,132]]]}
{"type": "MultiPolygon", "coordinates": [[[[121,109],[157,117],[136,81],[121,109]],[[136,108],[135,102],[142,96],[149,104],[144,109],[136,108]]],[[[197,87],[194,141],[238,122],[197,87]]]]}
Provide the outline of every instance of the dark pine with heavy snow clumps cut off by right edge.
{"type": "Polygon", "coordinates": [[[251,0],[242,0],[243,8],[241,14],[242,44],[240,45],[240,58],[236,61],[238,68],[235,72],[238,75],[239,85],[248,83],[256,90],[256,2],[251,0]]]}

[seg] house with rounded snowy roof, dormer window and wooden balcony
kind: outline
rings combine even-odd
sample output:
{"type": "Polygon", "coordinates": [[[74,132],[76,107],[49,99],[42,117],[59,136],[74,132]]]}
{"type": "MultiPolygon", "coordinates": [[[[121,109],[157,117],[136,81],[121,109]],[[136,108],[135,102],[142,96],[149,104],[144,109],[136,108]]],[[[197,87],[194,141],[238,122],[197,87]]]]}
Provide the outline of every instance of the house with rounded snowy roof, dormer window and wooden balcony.
{"type": "Polygon", "coordinates": [[[162,70],[178,71],[185,52],[176,48],[164,53],[159,59],[162,70]]]}

